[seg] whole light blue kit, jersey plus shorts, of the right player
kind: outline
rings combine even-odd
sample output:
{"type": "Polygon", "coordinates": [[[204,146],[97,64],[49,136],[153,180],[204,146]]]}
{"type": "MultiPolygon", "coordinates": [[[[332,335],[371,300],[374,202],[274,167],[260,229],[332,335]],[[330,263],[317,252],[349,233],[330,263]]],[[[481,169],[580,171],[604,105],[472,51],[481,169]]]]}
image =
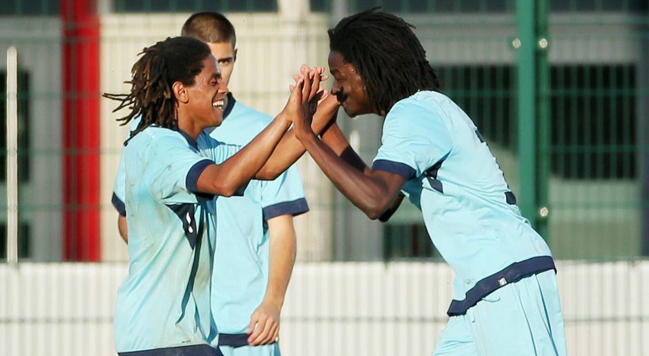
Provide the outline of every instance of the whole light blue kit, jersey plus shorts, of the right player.
{"type": "Polygon", "coordinates": [[[402,191],[455,271],[434,356],[565,355],[550,249],[461,108],[431,91],[398,101],[372,167],[407,179],[402,191]]]}

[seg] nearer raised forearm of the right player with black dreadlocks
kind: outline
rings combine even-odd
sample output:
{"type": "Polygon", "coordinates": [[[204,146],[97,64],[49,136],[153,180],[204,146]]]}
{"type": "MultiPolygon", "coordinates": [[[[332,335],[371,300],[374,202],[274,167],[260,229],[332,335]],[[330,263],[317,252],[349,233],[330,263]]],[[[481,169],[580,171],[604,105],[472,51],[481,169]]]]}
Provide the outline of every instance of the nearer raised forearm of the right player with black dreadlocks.
{"type": "Polygon", "coordinates": [[[369,168],[360,171],[351,166],[315,135],[304,137],[302,144],[342,195],[370,219],[377,219],[387,209],[394,197],[385,184],[369,175],[369,168]]]}

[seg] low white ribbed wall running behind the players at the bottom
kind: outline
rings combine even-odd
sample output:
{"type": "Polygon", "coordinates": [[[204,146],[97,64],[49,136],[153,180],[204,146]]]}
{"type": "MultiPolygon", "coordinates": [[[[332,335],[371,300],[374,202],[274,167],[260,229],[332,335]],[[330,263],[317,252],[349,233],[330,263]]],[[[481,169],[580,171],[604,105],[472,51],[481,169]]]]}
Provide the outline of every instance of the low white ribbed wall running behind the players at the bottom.
{"type": "MultiPolygon", "coordinates": [[[[649,355],[649,261],[561,261],[568,355],[649,355]]],[[[0,266],[0,355],[113,355],[124,264],[0,266]]],[[[452,297],[446,264],[298,264],[284,356],[429,355],[452,297]]]]}

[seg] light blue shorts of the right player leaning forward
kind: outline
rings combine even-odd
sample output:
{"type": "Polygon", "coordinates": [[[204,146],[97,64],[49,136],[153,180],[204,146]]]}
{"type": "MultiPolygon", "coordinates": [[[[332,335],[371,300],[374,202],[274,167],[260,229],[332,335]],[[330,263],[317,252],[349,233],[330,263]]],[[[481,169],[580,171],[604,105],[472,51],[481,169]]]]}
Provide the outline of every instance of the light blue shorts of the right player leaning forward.
{"type": "Polygon", "coordinates": [[[498,288],[451,317],[433,356],[565,356],[554,270],[498,288]]]}

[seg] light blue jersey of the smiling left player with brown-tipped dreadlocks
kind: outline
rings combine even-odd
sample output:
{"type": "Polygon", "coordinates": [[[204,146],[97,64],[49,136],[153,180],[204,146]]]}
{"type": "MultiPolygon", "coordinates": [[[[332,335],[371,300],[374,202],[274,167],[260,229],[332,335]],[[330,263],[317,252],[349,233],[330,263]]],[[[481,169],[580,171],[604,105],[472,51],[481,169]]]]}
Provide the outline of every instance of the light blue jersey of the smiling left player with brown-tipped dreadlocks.
{"type": "Polygon", "coordinates": [[[209,308],[213,196],[197,192],[215,145],[200,152],[183,132],[148,127],[124,148],[129,268],[117,291],[118,353],[206,345],[217,330],[209,308]],[[209,158],[208,158],[209,157],[209,158]]]}

